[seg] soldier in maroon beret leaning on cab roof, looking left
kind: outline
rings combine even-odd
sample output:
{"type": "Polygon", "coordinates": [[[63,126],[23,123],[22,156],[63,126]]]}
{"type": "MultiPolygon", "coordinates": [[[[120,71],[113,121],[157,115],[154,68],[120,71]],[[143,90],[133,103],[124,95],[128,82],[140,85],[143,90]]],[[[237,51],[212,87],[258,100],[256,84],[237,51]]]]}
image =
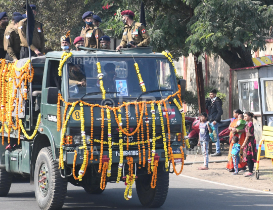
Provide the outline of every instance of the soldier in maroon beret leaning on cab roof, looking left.
{"type": "Polygon", "coordinates": [[[142,23],[133,21],[134,13],[130,10],[121,12],[122,22],[125,25],[122,40],[117,50],[125,48],[126,44],[131,48],[147,47],[150,44],[150,35],[142,23]],[[134,42],[133,45],[130,42],[134,42]]]}

